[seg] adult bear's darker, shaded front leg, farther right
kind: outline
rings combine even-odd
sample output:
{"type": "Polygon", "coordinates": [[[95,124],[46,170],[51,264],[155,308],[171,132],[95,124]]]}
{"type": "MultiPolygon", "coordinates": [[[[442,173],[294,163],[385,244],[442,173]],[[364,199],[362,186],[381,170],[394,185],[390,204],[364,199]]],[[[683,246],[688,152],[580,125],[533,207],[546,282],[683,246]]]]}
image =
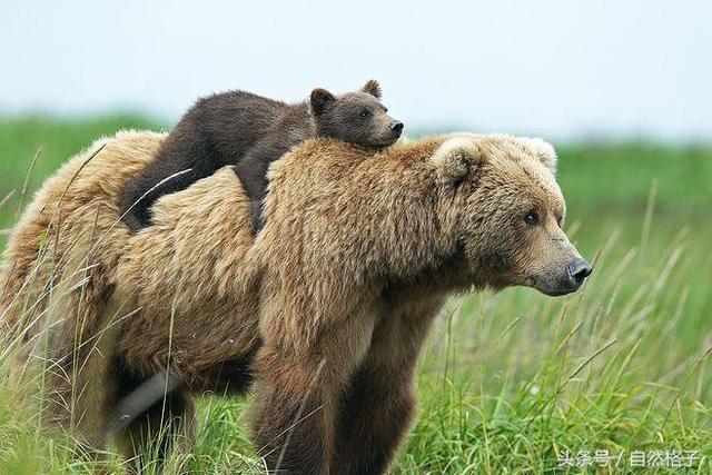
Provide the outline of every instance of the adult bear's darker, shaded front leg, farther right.
{"type": "Polygon", "coordinates": [[[340,400],[332,473],[382,474],[415,409],[413,376],[437,306],[380,318],[368,354],[340,400]]]}

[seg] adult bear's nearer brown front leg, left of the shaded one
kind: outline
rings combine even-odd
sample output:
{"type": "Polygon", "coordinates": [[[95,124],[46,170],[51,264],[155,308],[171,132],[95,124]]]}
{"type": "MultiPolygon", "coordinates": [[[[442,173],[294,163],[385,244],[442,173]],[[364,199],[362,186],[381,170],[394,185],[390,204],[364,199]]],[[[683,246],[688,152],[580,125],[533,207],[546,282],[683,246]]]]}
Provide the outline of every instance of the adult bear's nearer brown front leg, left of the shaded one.
{"type": "Polygon", "coordinates": [[[338,399],[372,330],[373,320],[354,317],[314,343],[259,350],[253,436],[270,473],[329,474],[338,399]]]}

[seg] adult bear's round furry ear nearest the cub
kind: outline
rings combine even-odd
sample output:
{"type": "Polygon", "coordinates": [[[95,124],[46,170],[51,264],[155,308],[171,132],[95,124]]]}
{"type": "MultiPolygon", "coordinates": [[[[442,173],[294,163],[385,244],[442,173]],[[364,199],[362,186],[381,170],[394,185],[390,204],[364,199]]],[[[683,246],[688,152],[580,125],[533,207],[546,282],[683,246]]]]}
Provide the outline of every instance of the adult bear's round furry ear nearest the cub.
{"type": "Polygon", "coordinates": [[[446,139],[431,161],[435,165],[438,180],[445,185],[459,184],[482,164],[477,145],[468,137],[446,139]]]}

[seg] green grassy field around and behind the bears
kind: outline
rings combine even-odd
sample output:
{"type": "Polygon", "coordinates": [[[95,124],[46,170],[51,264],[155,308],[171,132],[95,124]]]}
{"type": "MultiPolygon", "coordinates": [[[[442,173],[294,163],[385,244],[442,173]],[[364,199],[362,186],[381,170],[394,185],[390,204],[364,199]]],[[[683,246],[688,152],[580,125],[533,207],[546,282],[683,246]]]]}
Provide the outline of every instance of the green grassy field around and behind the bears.
{"type": "MultiPolygon", "coordinates": [[[[14,190],[0,229],[63,160],[125,127],[159,128],[130,116],[0,119],[0,200],[14,190]]],[[[593,276],[564,298],[453,298],[423,355],[417,419],[393,473],[712,472],[712,147],[557,148],[566,228],[593,276]]],[[[249,403],[201,400],[198,444],[174,468],[259,472],[249,403]]],[[[91,471],[36,419],[0,360],[0,473],[91,471]]]]}

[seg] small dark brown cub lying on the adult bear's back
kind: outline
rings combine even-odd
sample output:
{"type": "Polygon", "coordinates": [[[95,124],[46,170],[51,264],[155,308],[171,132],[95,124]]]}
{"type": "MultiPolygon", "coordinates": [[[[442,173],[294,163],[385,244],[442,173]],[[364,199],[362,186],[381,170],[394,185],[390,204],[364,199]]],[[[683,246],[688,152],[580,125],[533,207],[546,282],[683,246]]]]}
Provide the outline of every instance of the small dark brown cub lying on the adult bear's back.
{"type": "Polygon", "coordinates": [[[149,226],[150,207],[158,198],[233,165],[249,198],[253,225],[259,231],[264,226],[267,169],[291,147],[313,137],[329,137],[384,148],[400,137],[403,122],[388,116],[379,99],[380,86],[375,80],[340,96],[314,89],[308,101],[295,105],[245,91],[199,99],[169,133],[156,158],[121,190],[123,221],[134,232],[149,226]]]}

